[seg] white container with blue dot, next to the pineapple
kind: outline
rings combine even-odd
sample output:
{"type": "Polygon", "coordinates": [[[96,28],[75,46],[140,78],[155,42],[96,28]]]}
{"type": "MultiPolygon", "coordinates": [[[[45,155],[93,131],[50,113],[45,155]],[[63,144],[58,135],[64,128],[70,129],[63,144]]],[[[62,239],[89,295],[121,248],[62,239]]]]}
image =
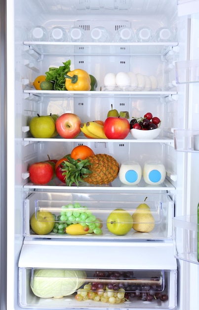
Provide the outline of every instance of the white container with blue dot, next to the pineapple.
{"type": "Polygon", "coordinates": [[[127,161],[120,165],[119,180],[126,185],[136,185],[142,177],[142,168],[139,163],[127,161]]]}

